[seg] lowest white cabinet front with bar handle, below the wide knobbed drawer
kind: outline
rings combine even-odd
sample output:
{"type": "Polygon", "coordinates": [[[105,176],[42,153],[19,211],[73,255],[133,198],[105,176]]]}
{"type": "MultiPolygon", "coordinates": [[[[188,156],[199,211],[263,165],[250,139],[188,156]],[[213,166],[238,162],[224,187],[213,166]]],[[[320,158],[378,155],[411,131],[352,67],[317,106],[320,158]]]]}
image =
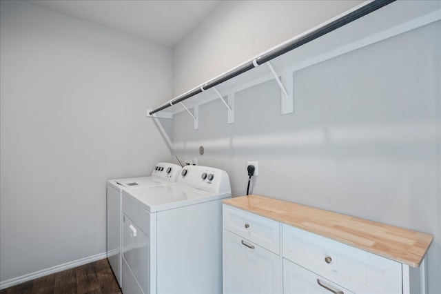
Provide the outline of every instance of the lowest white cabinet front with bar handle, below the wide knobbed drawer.
{"type": "Polygon", "coordinates": [[[353,294],[287,259],[283,259],[283,293],[353,294]]]}

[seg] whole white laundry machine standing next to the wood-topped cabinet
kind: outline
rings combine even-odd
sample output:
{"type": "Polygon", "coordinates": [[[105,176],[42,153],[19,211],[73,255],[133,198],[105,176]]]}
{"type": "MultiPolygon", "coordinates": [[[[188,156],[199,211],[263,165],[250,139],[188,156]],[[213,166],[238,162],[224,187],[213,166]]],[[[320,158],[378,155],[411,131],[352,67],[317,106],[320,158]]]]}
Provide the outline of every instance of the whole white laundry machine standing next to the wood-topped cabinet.
{"type": "Polygon", "coordinates": [[[176,184],[123,191],[123,293],[222,293],[225,171],[184,166],[176,184]]]}

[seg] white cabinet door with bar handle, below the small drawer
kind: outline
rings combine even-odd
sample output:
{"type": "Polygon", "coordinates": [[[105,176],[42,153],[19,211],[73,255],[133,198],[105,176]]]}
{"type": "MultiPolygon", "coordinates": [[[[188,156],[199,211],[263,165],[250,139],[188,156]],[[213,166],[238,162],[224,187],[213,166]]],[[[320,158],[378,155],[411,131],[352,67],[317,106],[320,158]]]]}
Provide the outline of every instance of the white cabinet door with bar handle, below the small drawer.
{"type": "Polygon", "coordinates": [[[281,293],[279,255],[224,231],[224,293],[281,293]]]}

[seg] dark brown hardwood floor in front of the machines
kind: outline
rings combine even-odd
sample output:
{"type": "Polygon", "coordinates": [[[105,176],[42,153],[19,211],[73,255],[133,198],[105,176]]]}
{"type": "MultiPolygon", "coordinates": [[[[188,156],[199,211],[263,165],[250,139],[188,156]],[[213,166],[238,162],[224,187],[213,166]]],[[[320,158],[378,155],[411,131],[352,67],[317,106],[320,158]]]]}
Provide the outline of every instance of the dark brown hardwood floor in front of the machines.
{"type": "Polygon", "coordinates": [[[0,294],[113,294],[121,293],[107,259],[24,282],[0,294]]]}

